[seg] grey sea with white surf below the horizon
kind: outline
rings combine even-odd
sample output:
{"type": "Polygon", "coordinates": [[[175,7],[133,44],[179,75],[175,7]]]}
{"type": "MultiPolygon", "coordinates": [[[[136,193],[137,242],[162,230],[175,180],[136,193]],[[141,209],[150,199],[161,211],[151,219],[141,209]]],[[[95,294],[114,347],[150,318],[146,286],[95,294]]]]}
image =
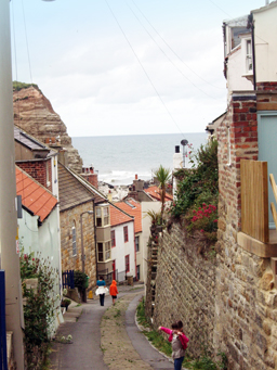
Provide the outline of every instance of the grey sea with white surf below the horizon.
{"type": "Polygon", "coordinates": [[[170,135],[133,135],[72,138],[72,145],[84,166],[93,165],[98,180],[111,184],[131,184],[138,179],[150,180],[153,171],[162,165],[172,169],[175,145],[186,139],[197,150],[207,142],[206,132],[170,135]]]}

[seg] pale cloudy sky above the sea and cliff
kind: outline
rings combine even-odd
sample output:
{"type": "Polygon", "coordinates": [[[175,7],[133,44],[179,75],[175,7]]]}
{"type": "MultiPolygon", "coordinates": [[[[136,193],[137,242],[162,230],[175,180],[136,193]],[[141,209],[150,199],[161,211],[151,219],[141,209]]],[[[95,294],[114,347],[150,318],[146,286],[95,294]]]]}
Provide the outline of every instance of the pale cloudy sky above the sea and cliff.
{"type": "Polygon", "coordinates": [[[71,137],[203,132],[226,109],[224,20],[265,0],[12,0],[13,79],[71,137]]]}

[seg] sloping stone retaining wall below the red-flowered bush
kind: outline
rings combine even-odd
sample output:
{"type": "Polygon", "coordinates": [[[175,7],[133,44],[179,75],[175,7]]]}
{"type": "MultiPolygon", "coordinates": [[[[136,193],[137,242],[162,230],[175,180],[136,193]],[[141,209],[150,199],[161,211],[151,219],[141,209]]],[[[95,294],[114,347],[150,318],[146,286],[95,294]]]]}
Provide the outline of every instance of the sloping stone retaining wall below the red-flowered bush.
{"type": "Polygon", "coordinates": [[[199,253],[203,244],[179,225],[159,238],[154,326],[182,320],[194,356],[203,348],[213,352],[215,258],[199,253]]]}

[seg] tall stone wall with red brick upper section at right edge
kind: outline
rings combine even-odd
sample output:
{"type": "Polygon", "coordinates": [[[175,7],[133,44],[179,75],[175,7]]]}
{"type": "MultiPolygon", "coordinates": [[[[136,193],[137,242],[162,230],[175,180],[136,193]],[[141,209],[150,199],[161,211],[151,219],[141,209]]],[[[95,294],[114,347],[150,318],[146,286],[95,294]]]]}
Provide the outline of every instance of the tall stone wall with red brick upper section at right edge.
{"type": "Polygon", "coordinates": [[[233,94],[226,119],[216,131],[220,202],[213,343],[235,370],[277,368],[277,291],[271,258],[249,253],[237,242],[240,160],[258,160],[256,109],[271,101],[264,95],[266,86],[260,86],[260,93],[233,94]]]}

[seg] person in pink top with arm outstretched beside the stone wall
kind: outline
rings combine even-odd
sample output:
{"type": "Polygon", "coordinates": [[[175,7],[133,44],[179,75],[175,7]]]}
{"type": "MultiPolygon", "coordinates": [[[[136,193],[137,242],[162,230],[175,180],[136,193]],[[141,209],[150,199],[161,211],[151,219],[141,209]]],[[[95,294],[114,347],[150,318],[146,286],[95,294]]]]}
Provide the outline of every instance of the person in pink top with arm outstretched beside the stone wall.
{"type": "Polygon", "coordinates": [[[174,370],[181,370],[185,357],[188,337],[183,333],[183,322],[176,321],[171,326],[172,329],[159,327],[159,330],[169,334],[169,342],[172,345],[172,358],[174,360],[174,370]]]}

